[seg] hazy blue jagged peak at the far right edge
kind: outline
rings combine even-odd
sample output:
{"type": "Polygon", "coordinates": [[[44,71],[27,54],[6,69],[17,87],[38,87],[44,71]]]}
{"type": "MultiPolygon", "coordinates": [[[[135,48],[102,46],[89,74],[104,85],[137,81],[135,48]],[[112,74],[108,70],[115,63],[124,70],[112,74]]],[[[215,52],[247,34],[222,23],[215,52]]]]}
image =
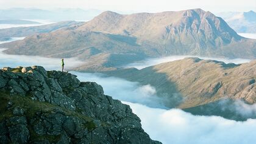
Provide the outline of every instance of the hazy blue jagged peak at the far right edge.
{"type": "Polygon", "coordinates": [[[249,12],[225,12],[218,13],[225,19],[232,29],[239,33],[256,33],[256,13],[249,12]]]}

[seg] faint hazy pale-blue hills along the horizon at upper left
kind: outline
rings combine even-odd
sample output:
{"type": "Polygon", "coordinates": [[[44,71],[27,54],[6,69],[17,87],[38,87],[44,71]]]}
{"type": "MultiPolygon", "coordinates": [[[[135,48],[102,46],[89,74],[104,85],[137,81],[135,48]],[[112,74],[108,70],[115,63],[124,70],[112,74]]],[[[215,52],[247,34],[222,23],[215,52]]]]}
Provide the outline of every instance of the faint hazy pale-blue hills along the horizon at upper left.
{"type": "Polygon", "coordinates": [[[24,9],[13,8],[0,10],[0,19],[49,19],[51,21],[88,21],[94,16],[99,15],[101,10],[82,10],[82,9],[24,9]]]}

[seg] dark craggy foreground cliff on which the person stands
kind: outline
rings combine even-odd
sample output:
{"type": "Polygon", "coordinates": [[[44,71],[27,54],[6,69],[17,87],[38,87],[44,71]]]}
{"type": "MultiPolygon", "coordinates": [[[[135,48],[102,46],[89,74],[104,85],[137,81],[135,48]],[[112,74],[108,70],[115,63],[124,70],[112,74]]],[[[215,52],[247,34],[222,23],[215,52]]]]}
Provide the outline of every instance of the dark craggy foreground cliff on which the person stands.
{"type": "Polygon", "coordinates": [[[43,67],[0,70],[1,143],[160,143],[101,86],[43,67]]]}

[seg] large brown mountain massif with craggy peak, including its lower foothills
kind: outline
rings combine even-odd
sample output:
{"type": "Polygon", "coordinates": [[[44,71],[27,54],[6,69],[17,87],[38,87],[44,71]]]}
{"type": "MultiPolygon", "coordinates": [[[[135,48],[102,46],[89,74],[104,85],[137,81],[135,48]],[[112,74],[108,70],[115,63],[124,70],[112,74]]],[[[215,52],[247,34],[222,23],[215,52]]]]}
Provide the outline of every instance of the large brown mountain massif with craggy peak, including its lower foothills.
{"type": "Polygon", "coordinates": [[[78,57],[85,64],[76,70],[87,71],[168,55],[256,57],[256,40],[241,37],[222,18],[201,9],[132,15],[108,11],[83,24],[1,47],[11,54],[78,57]]]}

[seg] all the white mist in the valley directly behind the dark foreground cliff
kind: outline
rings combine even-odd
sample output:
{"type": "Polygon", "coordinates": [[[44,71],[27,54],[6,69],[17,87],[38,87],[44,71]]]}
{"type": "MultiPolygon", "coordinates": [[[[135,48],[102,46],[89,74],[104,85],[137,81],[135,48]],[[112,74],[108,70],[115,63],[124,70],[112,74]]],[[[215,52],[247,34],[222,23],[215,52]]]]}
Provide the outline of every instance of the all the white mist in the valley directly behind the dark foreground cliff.
{"type": "MultiPolygon", "coordinates": [[[[66,60],[65,66],[74,66],[80,61],[66,60]]],[[[40,65],[48,70],[60,70],[60,59],[0,53],[0,67],[40,65]]],[[[167,109],[162,103],[166,99],[157,97],[155,87],[141,85],[121,78],[102,74],[71,72],[81,81],[95,81],[104,87],[106,95],[130,105],[141,119],[143,129],[154,140],[163,143],[252,143],[256,138],[256,120],[236,122],[216,116],[192,115],[180,109],[167,109]],[[214,138],[214,139],[213,139],[214,138]]],[[[254,114],[256,105],[241,101],[235,107],[243,114],[254,114]]]]}

